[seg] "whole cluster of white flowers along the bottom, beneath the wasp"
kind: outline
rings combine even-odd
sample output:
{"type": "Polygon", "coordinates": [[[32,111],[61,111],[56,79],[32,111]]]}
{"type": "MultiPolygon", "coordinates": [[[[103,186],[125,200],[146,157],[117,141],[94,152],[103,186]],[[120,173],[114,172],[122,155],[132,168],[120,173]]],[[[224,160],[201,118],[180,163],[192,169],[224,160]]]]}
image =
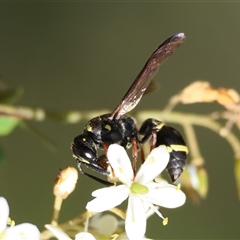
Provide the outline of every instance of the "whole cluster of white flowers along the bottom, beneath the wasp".
{"type": "MultiPolygon", "coordinates": [[[[120,205],[128,198],[125,219],[126,235],[125,237],[124,234],[122,236],[113,235],[118,226],[118,221],[116,218],[113,221],[113,216],[103,215],[99,217],[99,215],[95,215],[91,219],[90,225],[100,235],[112,236],[113,239],[121,239],[122,237],[127,237],[130,240],[146,239],[144,235],[149,212],[151,214],[155,212],[163,219],[165,225],[168,219],[164,218],[160,213],[159,206],[176,208],[183,205],[186,200],[185,194],[178,186],[168,184],[164,180],[156,181],[169,162],[169,152],[166,146],[163,145],[153,149],[141,165],[136,176],[127,152],[123,147],[118,144],[110,145],[107,157],[113,169],[114,177],[121,184],[94,191],[92,195],[95,199],[88,202],[86,208],[91,212],[104,212],[120,205]]],[[[0,197],[0,239],[40,239],[40,232],[35,225],[30,223],[13,225],[14,222],[9,220],[8,203],[5,198],[0,197]]],[[[48,224],[46,228],[60,240],[71,240],[57,226],[48,224]]],[[[85,229],[78,233],[75,239],[96,239],[88,232],[88,220],[85,229]]]]}

